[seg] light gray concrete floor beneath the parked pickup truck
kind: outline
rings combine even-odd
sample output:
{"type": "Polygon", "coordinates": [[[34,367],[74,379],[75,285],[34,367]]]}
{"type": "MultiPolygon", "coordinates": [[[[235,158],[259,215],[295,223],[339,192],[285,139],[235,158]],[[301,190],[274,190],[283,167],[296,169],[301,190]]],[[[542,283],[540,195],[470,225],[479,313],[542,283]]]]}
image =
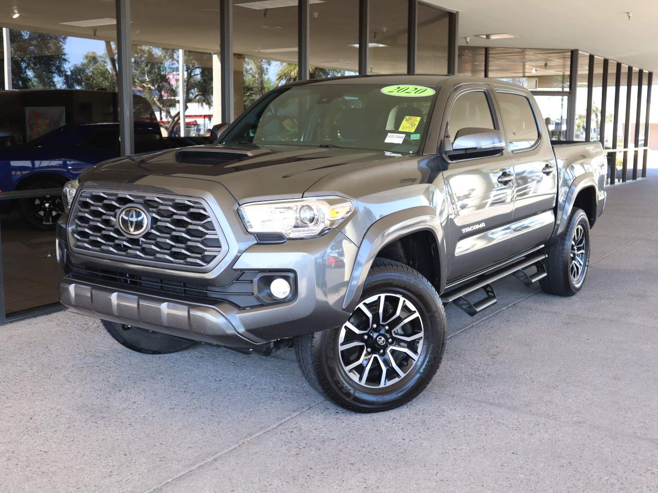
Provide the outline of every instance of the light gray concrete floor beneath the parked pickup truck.
{"type": "Polygon", "coordinates": [[[61,312],[0,327],[2,492],[656,492],[658,172],[609,189],[583,291],[516,279],[403,408],[343,411],[274,358],[122,348],[61,312]]]}

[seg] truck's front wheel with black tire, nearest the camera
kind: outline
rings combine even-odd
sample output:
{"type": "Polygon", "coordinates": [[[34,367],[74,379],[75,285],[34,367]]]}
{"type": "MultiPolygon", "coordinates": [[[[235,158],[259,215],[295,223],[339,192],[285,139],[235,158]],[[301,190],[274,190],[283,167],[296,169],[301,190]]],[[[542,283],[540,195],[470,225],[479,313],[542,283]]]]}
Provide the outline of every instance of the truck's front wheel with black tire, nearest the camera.
{"type": "Polygon", "coordinates": [[[430,383],[443,358],[445,325],[443,304],[427,279],[404,264],[377,259],[345,325],[295,338],[295,355],[311,386],[343,408],[387,411],[430,383]],[[365,310],[372,310],[372,321],[365,310]]]}

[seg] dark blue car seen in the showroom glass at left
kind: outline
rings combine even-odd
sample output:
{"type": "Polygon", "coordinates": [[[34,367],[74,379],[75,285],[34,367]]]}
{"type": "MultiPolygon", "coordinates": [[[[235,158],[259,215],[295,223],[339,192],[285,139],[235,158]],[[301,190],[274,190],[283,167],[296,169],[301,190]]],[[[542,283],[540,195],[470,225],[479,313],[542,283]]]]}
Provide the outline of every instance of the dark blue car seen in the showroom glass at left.
{"type": "MultiPolygon", "coordinates": [[[[63,212],[60,195],[1,200],[12,191],[61,189],[84,170],[120,156],[118,123],[70,124],[41,135],[29,143],[0,148],[0,201],[5,212],[18,206],[32,227],[53,229],[63,212]]],[[[207,143],[203,137],[164,138],[152,122],[135,124],[135,152],[148,153],[207,143]]]]}

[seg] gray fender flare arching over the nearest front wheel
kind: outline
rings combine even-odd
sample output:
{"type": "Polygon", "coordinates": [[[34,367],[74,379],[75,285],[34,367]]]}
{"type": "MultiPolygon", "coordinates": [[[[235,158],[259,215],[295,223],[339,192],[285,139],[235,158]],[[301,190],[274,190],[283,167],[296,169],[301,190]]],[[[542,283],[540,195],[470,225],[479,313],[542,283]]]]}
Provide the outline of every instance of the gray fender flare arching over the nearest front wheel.
{"type": "Polygon", "coordinates": [[[443,227],[437,212],[430,206],[418,206],[388,216],[372,223],[363,236],[357,256],[355,258],[352,273],[347,283],[347,291],[343,300],[343,310],[352,312],[363,292],[372,262],[377,254],[389,243],[418,231],[429,231],[434,235],[439,250],[439,266],[441,272],[441,289],[445,287],[445,275],[447,272],[445,241],[443,241],[443,227]]]}

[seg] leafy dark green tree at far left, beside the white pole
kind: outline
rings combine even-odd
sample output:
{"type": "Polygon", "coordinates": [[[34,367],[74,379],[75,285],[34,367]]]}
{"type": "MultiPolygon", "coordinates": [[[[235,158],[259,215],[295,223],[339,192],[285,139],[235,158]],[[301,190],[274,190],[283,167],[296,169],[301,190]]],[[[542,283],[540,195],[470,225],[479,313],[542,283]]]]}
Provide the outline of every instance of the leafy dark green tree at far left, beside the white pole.
{"type": "MultiPolygon", "coordinates": [[[[10,30],[14,89],[57,89],[66,84],[66,36],[10,30]]],[[[4,70],[2,70],[4,77],[4,70]]]]}

